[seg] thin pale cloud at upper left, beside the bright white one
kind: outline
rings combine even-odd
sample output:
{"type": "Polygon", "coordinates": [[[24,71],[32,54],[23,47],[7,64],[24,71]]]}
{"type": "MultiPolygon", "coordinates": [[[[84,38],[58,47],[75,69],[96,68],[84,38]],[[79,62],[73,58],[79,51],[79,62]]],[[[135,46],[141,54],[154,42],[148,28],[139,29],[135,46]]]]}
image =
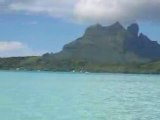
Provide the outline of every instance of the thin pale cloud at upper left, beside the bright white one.
{"type": "Polygon", "coordinates": [[[77,0],[17,0],[9,4],[15,11],[43,13],[53,17],[66,17],[72,13],[74,1],[77,0]]]}

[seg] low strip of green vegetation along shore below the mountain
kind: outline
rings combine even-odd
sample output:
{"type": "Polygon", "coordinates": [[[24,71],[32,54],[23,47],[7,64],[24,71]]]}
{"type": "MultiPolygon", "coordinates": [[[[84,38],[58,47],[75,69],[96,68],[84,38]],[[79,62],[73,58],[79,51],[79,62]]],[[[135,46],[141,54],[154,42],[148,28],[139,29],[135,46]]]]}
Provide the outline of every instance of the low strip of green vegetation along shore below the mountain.
{"type": "Polygon", "coordinates": [[[145,64],[94,64],[86,61],[63,60],[50,63],[41,57],[17,57],[0,59],[0,69],[159,74],[160,61],[145,64]]]}

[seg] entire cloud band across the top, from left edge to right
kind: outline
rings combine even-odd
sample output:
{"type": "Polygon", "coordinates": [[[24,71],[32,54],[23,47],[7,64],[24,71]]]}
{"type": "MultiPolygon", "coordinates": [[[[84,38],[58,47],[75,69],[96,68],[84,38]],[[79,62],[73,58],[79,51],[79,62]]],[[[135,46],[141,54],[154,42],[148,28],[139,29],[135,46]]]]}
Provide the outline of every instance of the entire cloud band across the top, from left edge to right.
{"type": "Polygon", "coordinates": [[[160,0],[0,0],[3,9],[80,22],[160,22],[160,0]]]}

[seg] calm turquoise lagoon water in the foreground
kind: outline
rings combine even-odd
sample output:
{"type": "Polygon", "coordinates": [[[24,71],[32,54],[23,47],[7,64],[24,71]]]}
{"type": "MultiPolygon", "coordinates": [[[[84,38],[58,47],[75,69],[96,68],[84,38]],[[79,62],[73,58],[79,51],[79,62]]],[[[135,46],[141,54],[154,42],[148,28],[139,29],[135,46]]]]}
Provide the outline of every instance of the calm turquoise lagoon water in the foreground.
{"type": "Polygon", "coordinates": [[[0,120],[160,120],[160,75],[1,71],[0,120]]]}

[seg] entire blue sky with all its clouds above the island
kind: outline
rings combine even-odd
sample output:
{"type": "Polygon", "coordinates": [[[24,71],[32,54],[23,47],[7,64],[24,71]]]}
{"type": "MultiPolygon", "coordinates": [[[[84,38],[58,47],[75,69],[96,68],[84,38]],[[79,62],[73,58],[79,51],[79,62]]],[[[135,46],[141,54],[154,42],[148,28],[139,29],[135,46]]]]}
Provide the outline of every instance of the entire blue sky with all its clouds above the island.
{"type": "Polygon", "coordinates": [[[160,43],[160,0],[0,0],[0,57],[59,52],[85,29],[138,23],[160,43]]]}

